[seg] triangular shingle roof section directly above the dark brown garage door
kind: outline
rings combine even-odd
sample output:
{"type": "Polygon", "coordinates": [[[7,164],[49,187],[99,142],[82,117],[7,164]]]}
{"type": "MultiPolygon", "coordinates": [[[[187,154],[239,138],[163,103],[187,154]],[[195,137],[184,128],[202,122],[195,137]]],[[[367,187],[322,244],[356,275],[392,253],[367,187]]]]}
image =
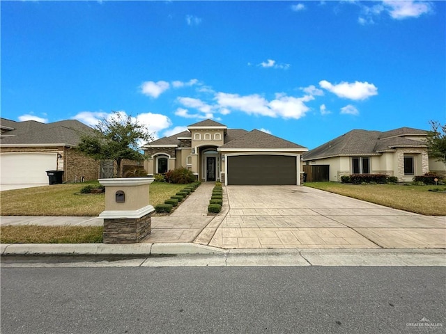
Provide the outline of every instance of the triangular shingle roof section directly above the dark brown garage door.
{"type": "Polygon", "coordinates": [[[251,132],[247,132],[243,136],[240,136],[233,141],[229,141],[222,146],[220,149],[240,149],[240,148],[251,148],[251,149],[306,149],[303,146],[292,143],[291,141],[286,141],[285,139],[272,136],[272,134],[267,134],[266,132],[262,132],[259,130],[252,130],[251,132]]]}

